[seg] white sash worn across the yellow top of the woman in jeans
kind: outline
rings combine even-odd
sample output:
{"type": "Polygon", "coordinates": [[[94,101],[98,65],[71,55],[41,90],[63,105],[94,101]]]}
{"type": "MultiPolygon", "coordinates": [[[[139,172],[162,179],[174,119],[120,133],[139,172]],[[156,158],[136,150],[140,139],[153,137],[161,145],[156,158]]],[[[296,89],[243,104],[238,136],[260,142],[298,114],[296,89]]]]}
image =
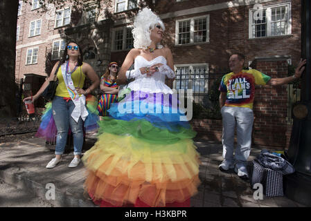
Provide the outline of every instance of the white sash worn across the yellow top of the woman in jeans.
{"type": "MultiPolygon", "coordinates": [[[[64,78],[64,82],[66,84],[66,88],[68,90],[69,96],[71,100],[75,104],[75,108],[71,113],[71,117],[78,123],[79,117],[82,118],[83,121],[87,118],[89,113],[87,112],[87,108],[85,107],[85,95],[79,96],[77,90],[75,90],[75,86],[73,85],[73,80],[71,79],[71,74],[66,73],[66,63],[62,64],[62,77],[64,78]]],[[[81,70],[80,70],[81,71],[81,70]]],[[[81,73],[82,74],[82,73],[81,73]]]]}

